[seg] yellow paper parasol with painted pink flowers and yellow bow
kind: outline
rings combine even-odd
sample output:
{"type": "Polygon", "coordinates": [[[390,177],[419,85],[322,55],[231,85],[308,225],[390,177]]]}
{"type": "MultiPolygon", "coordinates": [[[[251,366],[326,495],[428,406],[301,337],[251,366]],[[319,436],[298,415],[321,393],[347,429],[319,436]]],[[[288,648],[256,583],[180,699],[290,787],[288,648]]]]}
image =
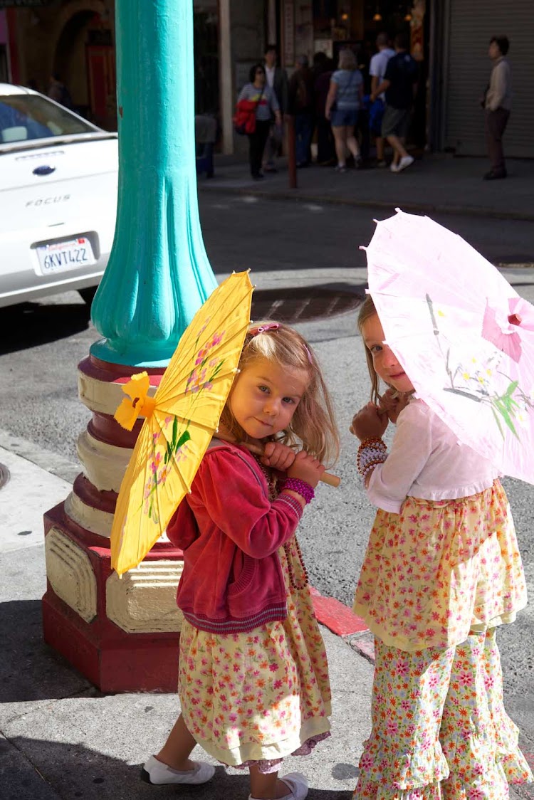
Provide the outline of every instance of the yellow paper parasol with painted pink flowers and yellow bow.
{"type": "Polygon", "coordinates": [[[122,401],[115,419],[128,430],[139,416],[145,421],[111,529],[111,566],[119,575],[143,561],[191,489],[235,378],[251,296],[248,273],[232,274],[195,314],[155,396],[148,397],[146,372],[123,387],[130,399],[122,401]]]}

